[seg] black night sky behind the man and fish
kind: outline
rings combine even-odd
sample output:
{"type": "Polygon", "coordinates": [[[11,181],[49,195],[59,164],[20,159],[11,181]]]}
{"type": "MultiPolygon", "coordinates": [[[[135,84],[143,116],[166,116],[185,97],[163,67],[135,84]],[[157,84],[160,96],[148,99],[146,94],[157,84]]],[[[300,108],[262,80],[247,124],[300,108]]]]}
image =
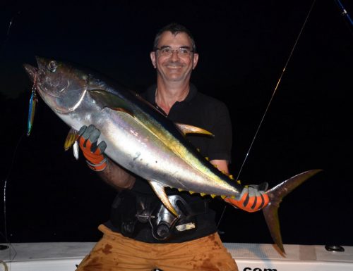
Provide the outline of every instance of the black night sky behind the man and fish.
{"type": "MultiPolygon", "coordinates": [[[[227,103],[235,176],[301,30],[311,1],[5,1],[0,4],[0,242],[97,241],[115,196],[72,152],[68,127],[40,100],[30,137],[32,84],[23,63],[59,58],[140,92],[160,27],[177,21],[196,39],[192,82],[227,103]],[[12,20],[12,24],[9,24],[12,20]]],[[[352,1],[342,0],[353,15],[352,1]]],[[[282,202],[285,244],[353,246],[352,25],[333,0],[317,0],[240,179],[269,182],[322,168],[282,202]]],[[[213,201],[220,218],[224,203],[213,201]]],[[[227,242],[273,243],[261,212],[227,207],[227,242]]]]}

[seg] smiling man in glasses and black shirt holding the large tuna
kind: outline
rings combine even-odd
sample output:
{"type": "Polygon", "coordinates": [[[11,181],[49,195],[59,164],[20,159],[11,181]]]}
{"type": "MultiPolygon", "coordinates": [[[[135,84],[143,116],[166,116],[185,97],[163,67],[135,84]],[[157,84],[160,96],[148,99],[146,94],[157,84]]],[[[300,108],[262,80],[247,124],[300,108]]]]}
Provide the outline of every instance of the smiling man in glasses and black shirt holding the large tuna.
{"type": "MultiPolygon", "coordinates": [[[[201,94],[190,83],[198,53],[189,30],[175,23],[163,27],[150,58],[157,84],[143,97],[170,120],[212,132],[214,138],[193,135],[188,139],[227,174],[232,146],[229,113],[224,103],[201,94]]],[[[97,146],[99,136],[94,126],[83,127],[80,148],[90,168],[120,192],[112,204],[111,219],[99,227],[102,239],[78,270],[238,270],[217,234],[208,197],[166,189],[180,215],[175,218],[148,182],[104,156],[106,145],[102,141],[97,146]]],[[[226,201],[252,212],[263,208],[268,196],[249,187],[237,199],[226,201]]]]}

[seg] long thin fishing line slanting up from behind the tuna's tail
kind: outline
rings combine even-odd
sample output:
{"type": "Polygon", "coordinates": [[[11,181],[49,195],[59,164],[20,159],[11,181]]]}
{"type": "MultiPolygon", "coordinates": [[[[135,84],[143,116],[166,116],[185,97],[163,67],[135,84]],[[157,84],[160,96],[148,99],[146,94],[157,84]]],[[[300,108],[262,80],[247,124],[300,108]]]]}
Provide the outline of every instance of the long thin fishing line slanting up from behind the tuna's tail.
{"type": "MultiPolygon", "coordinates": [[[[255,141],[255,139],[256,139],[256,137],[257,137],[257,135],[258,135],[258,131],[260,130],[260,128],[261,128],[261,126],[262,126],[262,124],[263,124],[263,120],[265,119],[265,115],[266,115],[267,112],[268,112],[268,108],[270,108],[270,104],[271,104],[272,101],[273,101],[273,97],[275,96],[275,93],[277,92],[277,89],[278,89],[278,86],[280,85],[280,82],[281,82],[281,80],[282,80],[282,77],[283,77],[283,75],[285,74],[285,70],[287,69],[287,65],[288,65],[289,61],[291,60],[291,58],[292,58],[294,49],[297,47],[297,43],[298,43],[298,41],[299,41],[299,38],[301,37],[301,33],[302,33],[303,30],[304,30],[304,27],[305,27],[305,25],[306,25],[306,22],[307,22],[308,19],[309,19],[309,16],[310,16],[310,14],[311,14],[311,11],[313,10],[313,6],[315,5],[315,2],[316,2],[316,0],[313,0],[313,3],[311,4],[311,7],[310,7],[310,9],[309,9],[309,12],[308,12],[308,14],[306,15],[306,18],[305,18],[305,20],[304,20],[304,24],[301,26],[301,30],[300,30],[300,32],[299,32],[299,34],[298,34],[298,37],[297,37],[296,41],[294,42],[294,46],[292,47],[292,51],[289,53],[289,57],[287,58],[287,62],[285,63],[285,67],[283,68],[282,73],[280,74],[280,78],[277,80],[277,84],[276,84],[276,86],[275,86],[275,89],[273,90],[273,94],[272,94],[272,96],[271,96],[271,98],[270,98],[270,101],[268,102],[268,105],[267,105],[267,107],[266,107],[266,109],[265,109],[265,113],[263,113],[263,116],[262,116],[262,118],[261,118],[260,124],[258,125],[258,128],[257,128],[257,130],[256,130],[256,132],[255,132],[255,135],[253,136],[253,140],[251,141],[251,144],[250,144],[249,149],[248,149],[248,151],[247,151],[247,153],[246,153],[246,156],[245,156],[245,158],[244,158],[244,161],[243,161],[243,163],[241,164],[241,168],[240,168],[239,173],[238,173],[238,175],[237,175],[237,179],[239,179],[239,177],[240,177],[241,170],[243,170],[244,164],[246,163],[246,159],[248,158],[249,153],[250,153],[250,151],[251,151],[251,149],[252,149],[252,147],[253,147],[253,142],[255,141]]],[[[237,180],[237,179],[236,179],[236,180],[237,180]]],[[[218,225],[220,225],[220,221],[221,221],[222,218],[223,218],[223,214],[225,213],[225,208],[227,208],[227,205],[225,205],[225,207],[224,207],[224,210],[223,210],[223,212],[222,212],[222,215],[221,215],[221,217],[220,217],[220,220],[219,220],[218,223],[217,223],[217,227],[218,227],[218,225]]]]}

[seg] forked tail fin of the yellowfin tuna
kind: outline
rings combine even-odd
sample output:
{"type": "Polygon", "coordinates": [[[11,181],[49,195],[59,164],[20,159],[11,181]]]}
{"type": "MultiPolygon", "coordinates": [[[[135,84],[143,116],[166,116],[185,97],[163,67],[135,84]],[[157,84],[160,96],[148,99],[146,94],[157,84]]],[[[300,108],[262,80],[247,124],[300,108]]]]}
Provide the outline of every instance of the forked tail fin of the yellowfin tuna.
{"type": "Polygon", "coordinates": [[[309,179],[320,171],[321,170],[308,170],[306,172],[302,172],[299,175],[285,180],[285,182],[281,182],[276,187],[273,187],[273,189],[266,191],[268,197],[270,198],[270,203],[268,203],[268,206],[263,208],[263,215],[265,215],[265,220],[273,241],[275,241],[275,244],[278,248],[280,248],[280,251],[283,254],[285,254],[285,248],[283,247],[280,233],[280,220],[278,220],[278,207],[280,207],[280,202],[282,201],[282,198],[287,196],[287,194],[305,182],[306,179],[309,179]]]}

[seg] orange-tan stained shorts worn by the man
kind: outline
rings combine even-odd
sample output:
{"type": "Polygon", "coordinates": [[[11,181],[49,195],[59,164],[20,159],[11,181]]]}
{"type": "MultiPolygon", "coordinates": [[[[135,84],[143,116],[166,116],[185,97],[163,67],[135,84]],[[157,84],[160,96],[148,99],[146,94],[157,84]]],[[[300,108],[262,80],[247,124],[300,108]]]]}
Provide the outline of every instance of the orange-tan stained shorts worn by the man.
{"type": "Polygon", "coordinates": [[[183,243],[149,244],[126,238],[104,225],[103,237],[76,271],[237,271],[217,233],[183,243]]]}

